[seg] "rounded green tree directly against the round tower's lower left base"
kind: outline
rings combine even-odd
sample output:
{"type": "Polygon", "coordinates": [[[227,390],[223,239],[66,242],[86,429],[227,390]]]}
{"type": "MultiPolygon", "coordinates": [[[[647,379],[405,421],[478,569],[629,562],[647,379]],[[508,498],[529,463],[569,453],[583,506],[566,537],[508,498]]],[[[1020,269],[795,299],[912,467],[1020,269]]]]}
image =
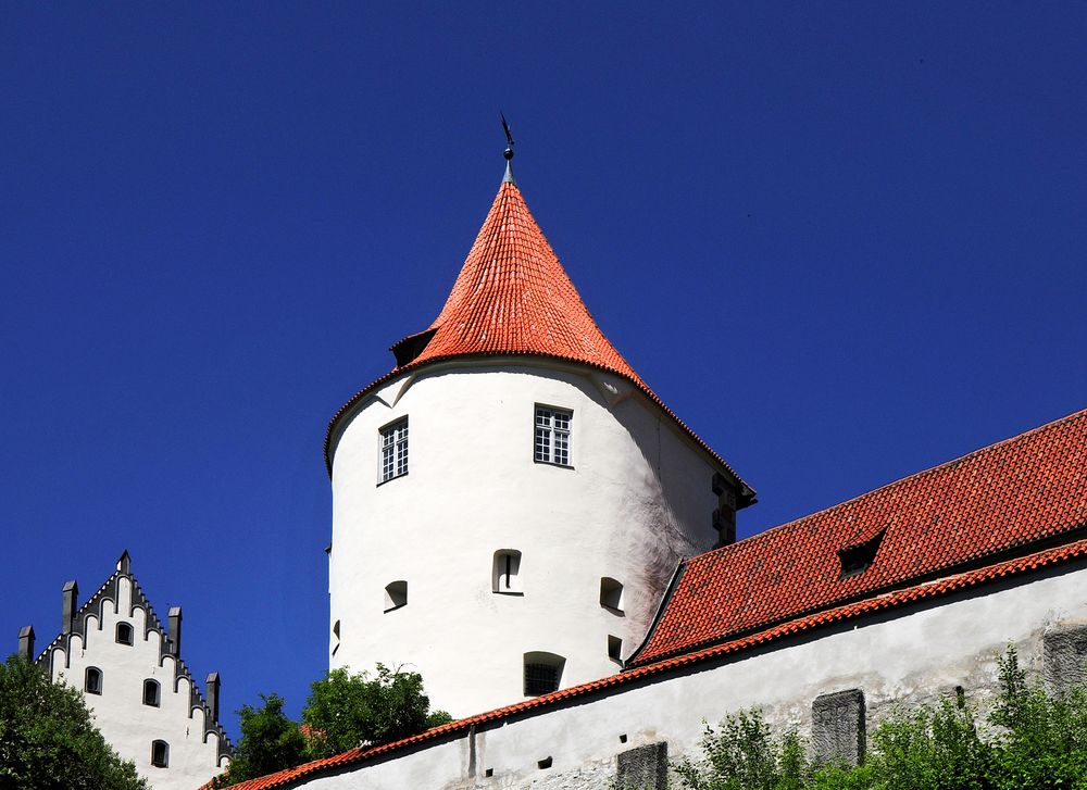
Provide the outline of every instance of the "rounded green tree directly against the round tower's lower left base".
{"type": "Polygon", "coordinates": [[[388,743],[452,720],[430,712],[423,678],[378,664],[366,673],[332,669],[311,687],[302,720],[310,730],[309,755],[326,757],[363,744],[388,743]]]}

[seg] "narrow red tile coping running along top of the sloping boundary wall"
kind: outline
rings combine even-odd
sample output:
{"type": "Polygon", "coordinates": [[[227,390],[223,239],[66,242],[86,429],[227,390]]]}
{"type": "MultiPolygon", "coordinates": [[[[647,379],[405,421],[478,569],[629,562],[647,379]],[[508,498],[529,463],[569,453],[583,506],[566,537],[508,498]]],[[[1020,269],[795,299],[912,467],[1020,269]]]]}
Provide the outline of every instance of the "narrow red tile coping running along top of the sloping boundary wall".
{"type": "MultiPolygon", "coordinates": [[[[915,601],[939,598],[941,595],[976,587],[995,579],[1019,576],[1039,568],[1059,565],[1078,557],[1087,557],[1087,539],[1046,549],[1034,554],[1020,556],[1014,560],[1008,560],[1002,563],[987,565],[974,570],[947,576],[934,581],[915,585],[895,592],[874,595],[862,601],[845,604],[830,610],[824,610],[815,614],[792,619],[788,623],[783,623],[757,634],[751,634],[724,643],[714,644],[702,650],[673,656],[671,659],[664,659],[653,664],[629,669],[617,675],[609,675],[608,677],[600,678],[599,680],[592,680],[587,684],[582,684],[580,686],[574,686],[569,689],[545,694],[544,697],[536,697],[524,702],[518,702],[514,705],[508,705],[507,707],[500,707],[496,711],[489,711],[488,713],[482,713],[476,716],[459,719],[457,722],[450,722],[449,724],[435,727],[426,732],[421,732],[420,735],[404,738],[392,743],[385,743],[379,747],[352,749],[333,757],[315,760],[295,768],[287,768],[286,770],[280,770],[276,774],[239,782],[238,785],[235,785],[234,788],[236,790],[267,790],[270,788],[289,787],[297,781],[305,781],[310,778],[315,778],[315,775],[322,774],[326,770],[360,764],[374,757],[399,751],[407,747],[434,741],[453,732],[465,731],[475,725],[495,722],[497,719],[510,718],[533,709],[546,709],[551,705],[560,704],[566,700],[585,697],[602,689],[622,687],[647,677],[671,672],[678,667],[689,666],[691,664],[697,664],[699,662],[733,653],[739,653],[745,650],[750,650],[769,642],[775,642],[797,634],[803,634],[833,623],[860,617],[883,610],[896,609],[915,601]]],[[[204,785],[204,788],[210,787],[210,782],[204,785]]]]}

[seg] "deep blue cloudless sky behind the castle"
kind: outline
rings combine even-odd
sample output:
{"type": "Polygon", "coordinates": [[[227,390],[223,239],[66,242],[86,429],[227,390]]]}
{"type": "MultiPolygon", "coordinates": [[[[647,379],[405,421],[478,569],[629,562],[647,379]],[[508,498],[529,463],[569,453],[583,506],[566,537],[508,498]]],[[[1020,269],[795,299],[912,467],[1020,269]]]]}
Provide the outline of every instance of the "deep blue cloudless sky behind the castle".
{"type": "Polygon", "coordinates": [[[0,639],[127,548],[225,712],[300,709],[325,426],[437,315],[500,109],[742,535],[1087,406],[1085,40],[1082,2],[3,4],[0,639]]]}

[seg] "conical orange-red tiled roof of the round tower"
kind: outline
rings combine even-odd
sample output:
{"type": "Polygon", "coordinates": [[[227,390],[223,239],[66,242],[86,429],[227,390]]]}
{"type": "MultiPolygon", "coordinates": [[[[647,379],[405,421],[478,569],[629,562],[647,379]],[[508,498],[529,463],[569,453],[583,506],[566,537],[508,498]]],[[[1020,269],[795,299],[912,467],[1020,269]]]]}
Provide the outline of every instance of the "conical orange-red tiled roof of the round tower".
{"type": "Polygon", "coordinates": [[[741,506],[754,491],[685,425],[609,342],[592,319],[551,244],[512,181],[503,181],[438,317],[426,333],[409,336],[425,342],[407,364],[357,393],[333,417],[325,435],[325,461],[332,468],[333,431],[352,405],[393,376],[428,363],[464,356],[533,355],[577,362],[632,381],[672,417],[739,482],[741,506]]]}

